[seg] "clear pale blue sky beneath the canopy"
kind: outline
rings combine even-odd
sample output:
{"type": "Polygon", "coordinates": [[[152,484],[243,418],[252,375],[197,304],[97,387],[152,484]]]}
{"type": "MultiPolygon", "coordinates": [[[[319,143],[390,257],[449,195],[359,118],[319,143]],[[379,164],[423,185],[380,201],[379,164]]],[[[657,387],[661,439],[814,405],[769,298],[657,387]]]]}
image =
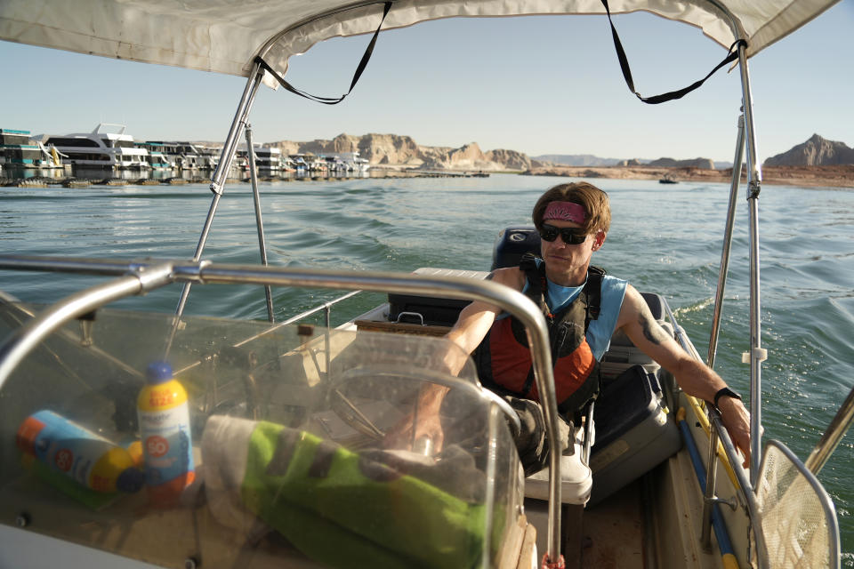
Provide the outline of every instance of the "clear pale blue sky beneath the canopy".
{"type": "MultiPolygon", "coordinates": [[[[616,17],[638,90],[690,84],[725,50],[699,30],[648,13],[616,17]]],[[[814,132],[854,146],[854,0],[843,0],[751,60],[764,159],[814,132]]],[[[345,92],[367,37],[319,44],[288,80],[345,92]]],[[[0,42],[0,127],[33,133],[126,124],[141,140],[223,140],[246,80],[0,42]]],[[[628,92],[602,17],[454,19],[383,32],[356,90],[328,107],[262,87],[254,139],[407,134],[419,144],[511,148],[530,156],[731,161],[740,106],[736,72],[698,92],[644,105],[628,92]]]]}

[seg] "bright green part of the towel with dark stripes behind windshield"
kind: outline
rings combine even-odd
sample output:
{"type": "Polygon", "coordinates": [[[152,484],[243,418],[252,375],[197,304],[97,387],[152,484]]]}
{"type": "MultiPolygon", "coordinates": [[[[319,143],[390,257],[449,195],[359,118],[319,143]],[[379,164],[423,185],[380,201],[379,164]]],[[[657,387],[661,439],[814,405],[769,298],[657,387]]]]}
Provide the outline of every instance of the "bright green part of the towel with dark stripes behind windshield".
{"type": "Polygon", "coordinates": [[[334,567],[472,567],[481,556],[483,505],[301,430],[258,423],[241,492],[264,522],[334,567]]]}

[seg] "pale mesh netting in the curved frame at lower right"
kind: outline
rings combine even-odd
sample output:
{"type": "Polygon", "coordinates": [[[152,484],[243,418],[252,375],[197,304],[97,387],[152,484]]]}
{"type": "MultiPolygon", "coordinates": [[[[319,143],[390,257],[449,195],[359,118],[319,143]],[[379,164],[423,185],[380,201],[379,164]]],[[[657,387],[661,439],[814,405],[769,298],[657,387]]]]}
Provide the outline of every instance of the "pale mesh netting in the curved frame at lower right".
{"type": "Polygon", "coordinates": [[[766,447],[757,484],[769,567],[832,567],[835,527],[828,527],[823,502],[810,481],[776,445],[766,447]]]}

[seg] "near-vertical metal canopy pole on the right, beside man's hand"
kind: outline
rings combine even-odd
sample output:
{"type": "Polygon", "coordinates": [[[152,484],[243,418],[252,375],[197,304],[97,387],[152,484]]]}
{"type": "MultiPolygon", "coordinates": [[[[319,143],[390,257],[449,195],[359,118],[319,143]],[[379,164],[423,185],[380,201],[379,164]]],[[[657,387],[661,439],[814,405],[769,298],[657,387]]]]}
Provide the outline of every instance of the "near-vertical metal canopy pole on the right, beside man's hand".
{"type": "Polygon", "coordinates": [[[738,45],[738,68],[741,72],[741,91],[745,112],[747,204],[750,215],[750,352],[746,354],[745,359],[750,362],[750,484],[755,488],[759,478],[759,465],[762,461],[761,364],[767,359],[767,350],[761,347],[761,298],[759,289],[759,192],[761,171],[756,152],[753,98],[750,93],[750,76],[747,71],[746,50],[745,44],[738,45]]]}

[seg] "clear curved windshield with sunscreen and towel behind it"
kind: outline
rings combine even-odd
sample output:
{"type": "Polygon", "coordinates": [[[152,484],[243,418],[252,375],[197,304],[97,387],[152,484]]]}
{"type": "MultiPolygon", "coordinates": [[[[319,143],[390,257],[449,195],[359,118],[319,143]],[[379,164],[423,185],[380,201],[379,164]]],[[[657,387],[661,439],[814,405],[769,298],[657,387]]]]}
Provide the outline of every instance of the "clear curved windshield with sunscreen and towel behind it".
{"type": "MultiPolygon", "coordinates": [[[[2,308],[5,336],[28,316],[2,308]]],[[[444,340],[184,318],[167,359],[187,393],[191,458],[157,470],[176,447],[146,438],[141,452],[140,420],[180,423],[180,397],[139,396],[171,329],[169,315],[102,309],[12,374],[0,391],[4,524],[26,512],[28,531],[167,566],[498,565],[520,467],[471,362],[462,380],[439,371],[444,340]],[[451,386],[443,448],[389,448],[431,382],[451,386]],[[153,498],[164,490],[172,501],[153,498]]]]}

